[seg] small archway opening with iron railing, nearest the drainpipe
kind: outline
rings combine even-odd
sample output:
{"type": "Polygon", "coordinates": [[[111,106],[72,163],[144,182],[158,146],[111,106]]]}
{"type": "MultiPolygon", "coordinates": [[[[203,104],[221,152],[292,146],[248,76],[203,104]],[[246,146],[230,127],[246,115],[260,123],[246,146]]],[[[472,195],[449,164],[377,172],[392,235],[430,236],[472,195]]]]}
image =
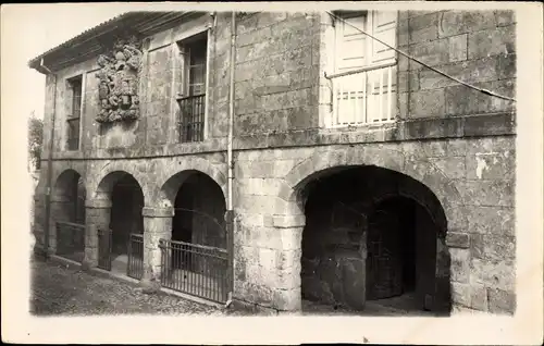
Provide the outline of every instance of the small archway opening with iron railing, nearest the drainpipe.
{"type": "Polygon", "coordinates": [[[174,208],[171,239],[163,251],[165,285],[225,301],[227,234],[222,188],[207,174],[190,170],[166,181],[162,193],[174,208]]]}

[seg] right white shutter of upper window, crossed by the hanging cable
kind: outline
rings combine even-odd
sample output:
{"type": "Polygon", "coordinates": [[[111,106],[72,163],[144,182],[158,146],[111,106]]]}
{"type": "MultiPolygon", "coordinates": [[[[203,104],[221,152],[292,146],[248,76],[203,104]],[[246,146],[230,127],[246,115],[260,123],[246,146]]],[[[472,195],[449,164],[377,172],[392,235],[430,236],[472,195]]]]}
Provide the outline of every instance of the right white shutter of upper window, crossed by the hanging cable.
{"type": "MultiPolygon", "coordinates": [[[[396,47],[397,12],[372,11],[370,17],[371,35],[381,41],[396,47]]],[[[386,63],[395,59],[395,51],[376,41],[371,42],[371,63],[386,63]]]]}

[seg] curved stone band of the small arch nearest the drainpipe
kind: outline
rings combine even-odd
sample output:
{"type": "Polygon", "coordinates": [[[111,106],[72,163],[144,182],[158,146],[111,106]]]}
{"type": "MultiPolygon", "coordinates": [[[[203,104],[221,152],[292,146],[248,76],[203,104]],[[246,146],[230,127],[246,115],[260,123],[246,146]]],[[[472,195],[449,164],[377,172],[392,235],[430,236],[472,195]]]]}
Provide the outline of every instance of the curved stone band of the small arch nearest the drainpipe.
{"type": "Polygon", "coordinates": [[[202,173],[215,182],[221,188],[223,197],[226,198],[226,177],[210,161],[196,157],[177,158],[176,161],[173,164],[166,164],[164,170],[159,172],[158,183],[151,197],[153,206],[172,207],[180,186],[190,174],[196,172],[202,173]]]}

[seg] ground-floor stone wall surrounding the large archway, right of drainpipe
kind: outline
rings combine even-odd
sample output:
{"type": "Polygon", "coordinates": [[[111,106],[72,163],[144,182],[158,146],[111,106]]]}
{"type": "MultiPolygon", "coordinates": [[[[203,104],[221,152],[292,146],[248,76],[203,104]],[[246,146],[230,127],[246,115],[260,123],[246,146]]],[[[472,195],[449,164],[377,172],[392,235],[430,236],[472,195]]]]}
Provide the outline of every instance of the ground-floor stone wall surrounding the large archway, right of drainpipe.
{"type": "Polygon", "coordinates": [[[292,188],[330,168],[374,164],[413,177],[440,200],[447,235],[437,261],[450,257],[444,274],[454,304],[514,311],[514,146],[512,137],[492,137],[238,152],[235,297],[279,310],[299,306],[305,218],[292,188]]]}

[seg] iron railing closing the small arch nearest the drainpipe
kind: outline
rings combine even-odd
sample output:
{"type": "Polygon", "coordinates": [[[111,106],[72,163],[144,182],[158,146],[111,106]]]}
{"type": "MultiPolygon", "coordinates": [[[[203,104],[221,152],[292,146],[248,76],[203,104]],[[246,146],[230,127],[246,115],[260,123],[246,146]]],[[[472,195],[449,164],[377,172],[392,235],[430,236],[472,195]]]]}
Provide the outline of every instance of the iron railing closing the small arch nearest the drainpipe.
{"type": "Polygon", "coordinates": [[[160,239],[163,287],[217,302],[225,302],[228,291],[226,249],[160,239]]]}

